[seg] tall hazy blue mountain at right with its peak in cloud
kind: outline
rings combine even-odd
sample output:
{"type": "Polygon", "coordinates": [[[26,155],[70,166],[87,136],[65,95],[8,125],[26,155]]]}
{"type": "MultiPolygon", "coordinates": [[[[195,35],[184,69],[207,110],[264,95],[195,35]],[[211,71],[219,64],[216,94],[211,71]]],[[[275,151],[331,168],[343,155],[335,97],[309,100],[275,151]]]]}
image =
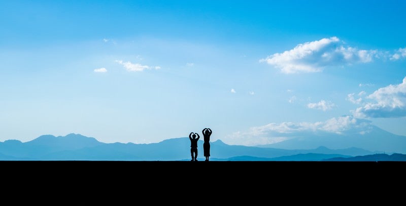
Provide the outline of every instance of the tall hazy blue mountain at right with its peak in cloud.
{"type": "Polygon", "coordinates": [[[395,135],[374,125],[367,125],[361,133],[360,128],[350,129],[341,134],[323,131],[298,131],[289,134],[292,139],[275,144],[258,145],[257,147],[270,147],[280,149],[312,149],[325,146],[330,149],[363,148],[375,153],[406,153],[406,137],[395,135]]]}

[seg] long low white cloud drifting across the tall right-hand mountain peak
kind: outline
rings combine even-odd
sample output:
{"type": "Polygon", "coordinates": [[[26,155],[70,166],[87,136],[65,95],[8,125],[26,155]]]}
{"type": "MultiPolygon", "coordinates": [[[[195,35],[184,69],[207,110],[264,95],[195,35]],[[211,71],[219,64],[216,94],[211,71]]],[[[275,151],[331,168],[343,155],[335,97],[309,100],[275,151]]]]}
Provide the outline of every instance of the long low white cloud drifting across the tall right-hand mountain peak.
{"type": "Polygon", "coordinates": [[[295,138],[307,132],[327,132],[344,134],[353,130],[358,134],[366,134],[370,130],[370,121],[357,119],[352,115],[330,118],[317,122],[282,122],[269,123],[268,125],[252,127],[247,132],[235,132],[226,135],[224,142],[227,144],[240,144],[246,146],[273,144],[295,138]]]}

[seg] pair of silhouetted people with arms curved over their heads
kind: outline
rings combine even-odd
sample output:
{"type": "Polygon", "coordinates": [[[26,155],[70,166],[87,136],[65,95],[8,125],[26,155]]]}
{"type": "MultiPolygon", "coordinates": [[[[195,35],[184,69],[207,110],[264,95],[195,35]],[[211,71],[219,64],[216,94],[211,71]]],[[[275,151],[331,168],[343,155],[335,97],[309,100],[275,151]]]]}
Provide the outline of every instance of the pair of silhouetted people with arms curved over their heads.
{"type": "MultiPolygon", "coordinates": [[[[203,150],[204,155],[206,157],[205,161],[209,161],[210,156],[210,136],[212,135],[212,130],[210,128],[205,128],[201,131],[204,137],[203,143],[203,150]]],[[[197,161],[197,141],[199,140],[200,136],[197,133],[191,132],[189,134],[190,139],[190,155],[192,156],[192,160],[190,161],[197,161]],[[197,138],[196,138],[197,136],[197,138]]]]}

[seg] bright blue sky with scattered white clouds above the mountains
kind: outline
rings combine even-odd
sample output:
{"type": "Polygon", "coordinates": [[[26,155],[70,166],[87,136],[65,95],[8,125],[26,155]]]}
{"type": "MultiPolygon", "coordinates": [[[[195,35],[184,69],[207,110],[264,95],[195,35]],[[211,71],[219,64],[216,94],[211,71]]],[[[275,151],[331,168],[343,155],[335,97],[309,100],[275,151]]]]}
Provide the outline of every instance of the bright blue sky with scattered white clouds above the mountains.
{"type": "Polygon", "coordinates": [[[406,136],[404,1],[0,1],[0,141],[406,136]],[[328,127],[327,127],[328,126],[328,127]],[[262,128],[262,129],[261,129],[262,128]],[[283,131],[283,130],[282,130],[283,131]]]}

